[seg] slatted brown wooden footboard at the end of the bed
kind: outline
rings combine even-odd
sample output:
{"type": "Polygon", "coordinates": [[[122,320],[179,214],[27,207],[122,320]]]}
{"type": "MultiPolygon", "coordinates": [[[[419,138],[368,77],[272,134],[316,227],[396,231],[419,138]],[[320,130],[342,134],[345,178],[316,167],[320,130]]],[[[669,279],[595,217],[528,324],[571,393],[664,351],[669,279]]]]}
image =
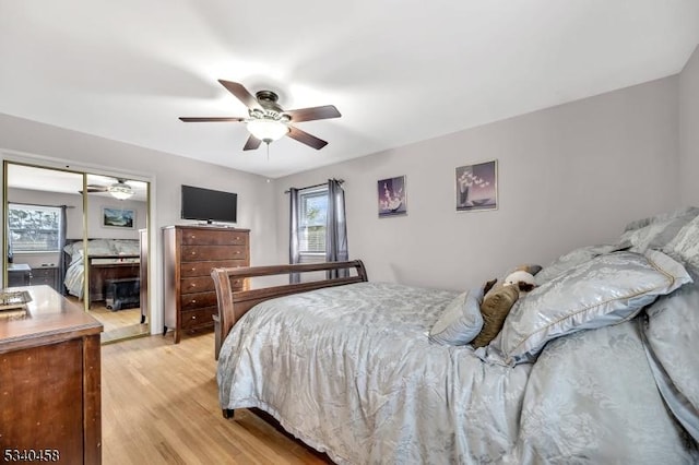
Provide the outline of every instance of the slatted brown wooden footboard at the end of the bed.
{"type": "Polygon", "coordinates": [[[323,287],[342,286],[352,283],[367,281],[367,272],[360,260],[351,262],[327,262],[294,265],[272,265],[272,266],[244,266],[229,269],[213,269],[211,277],[216,286],[216,299],[218,314],[214,315],[215,321],[215,357],[218,359],[218,351],[223,339],[234,324],[248,310],[256,305],[275,297],[289,296],[292,294],[305,293],[307,290],[320,289],[323,287]],[[335,277],[319,279],[306,283],[286,284],[282,286],[263,287],[250,290],[233,290],[232,279],[241,279],[257,276],[273,276],[292,273],[309,273],[333,270],[356,270],[355,276],[335,277]]]}

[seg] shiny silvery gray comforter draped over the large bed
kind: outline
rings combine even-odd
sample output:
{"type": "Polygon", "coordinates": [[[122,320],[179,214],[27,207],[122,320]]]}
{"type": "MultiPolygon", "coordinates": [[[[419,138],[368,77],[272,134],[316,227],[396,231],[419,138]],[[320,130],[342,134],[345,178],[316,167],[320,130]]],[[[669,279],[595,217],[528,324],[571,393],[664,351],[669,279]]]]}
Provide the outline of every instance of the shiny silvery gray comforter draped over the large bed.
{"type": "Polygon", "coordinates": [[[337,463],[699,462],[638,318],[511,367],[428,339],[455,295],[362,283],[263,302],[223,344],[221,405],[259,407],[337,463]]]}

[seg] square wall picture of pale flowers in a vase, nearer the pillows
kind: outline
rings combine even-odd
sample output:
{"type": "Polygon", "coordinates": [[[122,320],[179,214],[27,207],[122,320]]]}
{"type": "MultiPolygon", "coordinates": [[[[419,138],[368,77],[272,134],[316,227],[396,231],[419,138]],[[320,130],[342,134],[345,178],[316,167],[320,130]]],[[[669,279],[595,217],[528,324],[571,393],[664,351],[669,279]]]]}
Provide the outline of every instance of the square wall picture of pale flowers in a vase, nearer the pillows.
{"type": "Polygon", "coordinates": [[[457,212],[498,208],[498,160],[459,166],[455,169],[457,212]]]}

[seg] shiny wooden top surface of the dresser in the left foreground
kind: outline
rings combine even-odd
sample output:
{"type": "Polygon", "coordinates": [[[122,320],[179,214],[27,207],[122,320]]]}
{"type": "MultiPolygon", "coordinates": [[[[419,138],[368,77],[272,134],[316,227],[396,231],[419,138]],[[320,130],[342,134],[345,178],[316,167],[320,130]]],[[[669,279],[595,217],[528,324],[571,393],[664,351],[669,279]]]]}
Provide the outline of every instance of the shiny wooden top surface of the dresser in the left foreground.
{"type": "Polygon", "coordinates": [[[50,286],[12,287],[5,290],[27,290],[32,301],[24,317],[0,315],[0,354],[99,334],[103,330],[102,323],[50,286]]]}

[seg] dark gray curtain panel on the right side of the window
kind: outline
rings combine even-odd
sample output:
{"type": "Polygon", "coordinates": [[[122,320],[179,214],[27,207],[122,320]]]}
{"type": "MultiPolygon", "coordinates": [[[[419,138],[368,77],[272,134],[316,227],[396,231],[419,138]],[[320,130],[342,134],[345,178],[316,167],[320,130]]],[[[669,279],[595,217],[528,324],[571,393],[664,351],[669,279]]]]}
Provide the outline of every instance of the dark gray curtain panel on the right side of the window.
{"type": "MultiPolygon", "coordinates": [[[[347,223],[345,219],[345,191],[342,182],[336,179],[328,180],[328,225],[325,228],[325,261],[344,262],[347,253],[347,223]]],[[[328,272],[328,278],[346,277],[347,270],[328,272]]]]}

